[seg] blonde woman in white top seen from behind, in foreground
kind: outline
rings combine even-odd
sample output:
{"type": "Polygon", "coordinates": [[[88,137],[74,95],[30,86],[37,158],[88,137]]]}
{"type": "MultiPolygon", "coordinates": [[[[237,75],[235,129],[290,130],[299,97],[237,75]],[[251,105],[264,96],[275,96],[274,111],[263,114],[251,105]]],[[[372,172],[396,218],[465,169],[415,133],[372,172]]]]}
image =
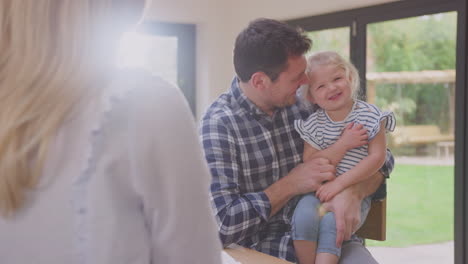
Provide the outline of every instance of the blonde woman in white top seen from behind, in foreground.
{"type": "Polygon", "coordinates": [[[186,102],[113,66],[144,6],[0,1],[1,263],[220,263],[186,102]]]}

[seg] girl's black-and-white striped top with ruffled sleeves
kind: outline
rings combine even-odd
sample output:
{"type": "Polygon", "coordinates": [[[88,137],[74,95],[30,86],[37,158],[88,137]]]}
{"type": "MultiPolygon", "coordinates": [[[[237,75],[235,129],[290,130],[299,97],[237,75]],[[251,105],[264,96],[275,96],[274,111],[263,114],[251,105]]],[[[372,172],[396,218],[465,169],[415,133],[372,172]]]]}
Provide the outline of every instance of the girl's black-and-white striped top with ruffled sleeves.
{"type": "MultiPolygon", "coordinates": [[[[343,129],[351,122],[362,124],[367,129],[369,141],[380,131],[380,122],[385,120],[386,132],[395,129],[395,116],[393,112],[382,112],[375,105],[356,100],[351,112],[343,121],[335,122],[323,109],[318,109],[305,121],[294,121],[294,127],[301,138],[312,147],[322,150],[335,143],[343,129]]],[[[368,145],[348,150],[346,155],[336,167],[337,175],[352,169],[368,155],[368,145]]]]}

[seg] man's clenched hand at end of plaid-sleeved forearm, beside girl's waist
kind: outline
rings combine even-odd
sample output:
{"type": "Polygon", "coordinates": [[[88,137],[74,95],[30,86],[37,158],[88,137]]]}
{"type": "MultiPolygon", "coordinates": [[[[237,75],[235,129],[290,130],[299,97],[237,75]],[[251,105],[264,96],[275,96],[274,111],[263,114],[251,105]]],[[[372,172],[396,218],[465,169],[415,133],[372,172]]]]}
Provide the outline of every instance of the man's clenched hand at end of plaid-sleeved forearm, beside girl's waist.
{"type": "Polygon", "coordinates": [[[297,165],[286,177],[296,195],[314,192],[324,181],[335,179],[335,167],[327,159],[316,158],[297,165]]]}

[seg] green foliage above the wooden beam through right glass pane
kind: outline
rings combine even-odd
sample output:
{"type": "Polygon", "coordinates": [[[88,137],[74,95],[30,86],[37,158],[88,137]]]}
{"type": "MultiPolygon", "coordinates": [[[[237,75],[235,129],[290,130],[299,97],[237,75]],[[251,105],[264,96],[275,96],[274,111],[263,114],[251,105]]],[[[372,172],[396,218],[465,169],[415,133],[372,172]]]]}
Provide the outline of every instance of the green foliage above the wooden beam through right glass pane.
{"type": "Polygon", "coordinates": [[[455,68],[455,12],[374,23],[367,32],[374,60],[368,71],[455,68]]]}

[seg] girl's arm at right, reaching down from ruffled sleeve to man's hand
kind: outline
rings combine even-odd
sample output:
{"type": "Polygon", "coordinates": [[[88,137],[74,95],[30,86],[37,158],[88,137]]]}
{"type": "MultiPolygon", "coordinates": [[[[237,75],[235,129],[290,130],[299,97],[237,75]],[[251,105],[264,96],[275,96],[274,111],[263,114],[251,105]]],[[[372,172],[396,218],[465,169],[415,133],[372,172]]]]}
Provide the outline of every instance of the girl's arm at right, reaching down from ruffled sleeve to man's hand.
{"type": "Polygon", "coordinates": [[[329,201],[337,193],[354,185],[362,182],[372,175],[374,175],[384,164],[385,156],[387,154],[387,144],[385,139],[385,121],[380,124],[380,131],[369,142],[368,156],[362,159],[354,168],[343,173],[331,182],[322,185],[317,191],[317,197],[321,201],[329,201]]]}

